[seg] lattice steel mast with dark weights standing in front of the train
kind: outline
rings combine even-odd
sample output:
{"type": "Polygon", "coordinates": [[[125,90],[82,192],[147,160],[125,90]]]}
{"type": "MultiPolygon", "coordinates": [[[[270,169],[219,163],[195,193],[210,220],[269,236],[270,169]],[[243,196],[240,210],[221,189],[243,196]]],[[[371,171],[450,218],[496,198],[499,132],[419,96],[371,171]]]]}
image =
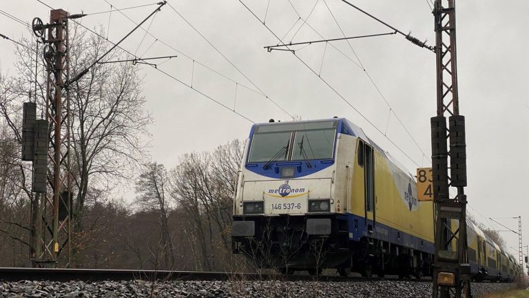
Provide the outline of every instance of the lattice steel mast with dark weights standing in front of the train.
{"type": "Polygon", "coordinates": [[[437,116],[432,117],[432,174],[435,208],[433,298],[469,298],[466,239],[465,118],[459,115],[455,0],[435,0],[437,116]],[[447,5],[444,6],[444,2],[447,5]],[[448,129],[445,112],[448,114],[448,129]],[[450,138],[449,150],[448,141],[450,138]],[[448,157],[450,164],[448,165],[448,157]],[[450,168],[450,175],[448,175],[450,168]],[[450,187],[457,188],[450,198],[450,187]]]}

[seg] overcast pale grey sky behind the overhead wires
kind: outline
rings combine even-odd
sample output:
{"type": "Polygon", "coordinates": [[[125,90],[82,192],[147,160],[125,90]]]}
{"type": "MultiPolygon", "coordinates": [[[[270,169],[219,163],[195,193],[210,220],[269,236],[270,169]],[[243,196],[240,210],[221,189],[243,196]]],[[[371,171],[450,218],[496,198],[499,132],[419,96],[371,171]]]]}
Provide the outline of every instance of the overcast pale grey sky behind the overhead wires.
{"type": "MultiPolygon", "coordinates": [[[[339,0],[242,1],[261,21],[266,16],[266,25],[279,37],[284,37],[285,42],[321,39],[311,28],[326,39],[343,37],[329,8],[347,37],[391,32],[339,0]],[[300,17],[307,19],[307,23],[304,24],[300,17]]],[[[353,0],[352,3],[403,32],[411,30],[415,37],[428,39],[433,45],[435,35],[429,1],[353,0]]],[[[114,9],[126,8],[154,1],[45,2],[70,13],[83,11],[90,14],[110,10],[111,5],[114,9]]],[[[429,119],[435,115],[433,52],[414,46],[400,35],[355,39],[351,40],[351,47],[346,41],[333,42],[332,46],[331,43],[313,44],[302,50],[302,46],[295,47],[300,49],[296,52],[298,57],[318,72],[320,79],[293,54],[264,50],[263,46],[277,44],[278,40],[240,1],[170,0],[169,3],[244,75],[169,6],[164,6],[150,25],[149,32],[154,37],[147,34],[141,43],[145,32],[138,30],[123,42],[123,48],[138,55],[148,49],[143,57],[178,54],[178,58],[161,64],[159,68],[188,85],[191,85],[192,77],[194,88],[252,121],[289,119],[285,112],[267,99],[269,97],[289,114],[302,119],[333,116],[350,119],[406,168],[415,172],[415,163],[377,131],[381,130],[419,166],[430,166],[422,151],[428,157],[431,155],[429,119]],[[366,74],[373,79],[384,98],[366,74]],[[376,128],[323,80],[362,112],[376,128]],[[260,92],[267,97],[259,95],[260,92]],[[393,110],[390,117],[388,105],[393,110]]],[[[141,21],[154,8],[156,6],[146,6],[123,10],[123,13],[134,21],[141,21]]],[[[28,23],[34,17],[41,17],[44,22],[49,19],[49,9],[37,0],[3,0],[0,9],[28,23]]],[[[467,124],[466,193],[469,211],[479,221],[498,230],[504,228],[493,225],[488,217],[521,215],[523,221],[528,222],[529,215],[526,190],[529,183],[526,170],[529,167],[526,155],[529,150],[528,9],[529,2],[523,0],[457,1],[459,101],[461,115],[466,116],[467,124]]],[[[107,28],[108,38],[114,42],[135,26],[115,11],[112,14],[88,15],[81,21],[88,28],[107,28]]],[[[145,28],[149,23],[151,20],[147,21],[145,28]]],[[[0,24],[0,33],[12,39],[32,37],[21,24],[1,14],[0,24]]],[[[16,55],[13,44],[0,40],[0,51],[1,71],[14,75],[12,63],[16,55]]],[[[163,73],[148,66],[140,67],[145,75],[146,108],[156,121],[150,128],[154,161],[171,168],[178,156],[186,152],[211,150],[231,139],[247,137],[250,121],[163,73]]],[[[516,219],[499,221],[517,230],[516,219]]],[[[526,230],[523,232],[525,244],[529,244],[529,227],[523,228],[526,230]]],[[[512,232],[502,232],[501,235],[508,241],[508,246],[518,247],[517,235],[512,232]]],[[[510,252],[515,253],[513,250],[510,252]]]]}

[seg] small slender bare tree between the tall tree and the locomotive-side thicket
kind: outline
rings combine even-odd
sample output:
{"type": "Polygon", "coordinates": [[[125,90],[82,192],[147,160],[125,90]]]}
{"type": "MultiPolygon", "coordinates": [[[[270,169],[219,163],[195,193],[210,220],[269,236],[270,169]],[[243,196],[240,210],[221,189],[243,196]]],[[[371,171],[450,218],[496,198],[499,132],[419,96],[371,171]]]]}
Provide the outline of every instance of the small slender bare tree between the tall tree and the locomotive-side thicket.
{"type": "MultiPolygon", "coordinates": [[[[147,163],[145,170],[136,182],[135,205],[141,210],[154,210],[160,214],[160,245],[161,255],[165,266],[174,267],[174,252],[167,215],[169,212],[169,198],[167,192],[167,171],[160,163],[147,163]]],[[[157,254],[158,254],[158,250],[157,254]]]]}

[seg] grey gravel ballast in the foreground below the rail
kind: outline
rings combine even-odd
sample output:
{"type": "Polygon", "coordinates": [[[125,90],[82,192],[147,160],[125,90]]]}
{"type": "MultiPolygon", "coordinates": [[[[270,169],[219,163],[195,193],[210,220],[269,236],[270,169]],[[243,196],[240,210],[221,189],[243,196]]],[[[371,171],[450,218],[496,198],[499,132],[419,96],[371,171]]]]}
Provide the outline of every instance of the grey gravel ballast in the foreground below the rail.
{"type": "MultiPolygon", "coordinates": [[[[473,284],[474,297],[512,287],[473,284]]],[[[1,282],[0,297],[373,297],[429,298],[431,282],[413,281],[101,281],[1,282]]]]}

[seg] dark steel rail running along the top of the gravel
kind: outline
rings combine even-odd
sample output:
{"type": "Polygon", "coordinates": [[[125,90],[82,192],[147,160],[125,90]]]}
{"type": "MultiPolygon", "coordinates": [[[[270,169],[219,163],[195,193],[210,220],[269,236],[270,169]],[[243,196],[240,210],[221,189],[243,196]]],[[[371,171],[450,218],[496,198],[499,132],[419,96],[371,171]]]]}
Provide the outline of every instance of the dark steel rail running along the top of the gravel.
{"type": "MultiPolygon", "coordinates": [[[[280,275],[239,272],[203,272],[169,270],[113,270],[113,269],[56,269],[56,268],[0,268],[0,281],[395,281],[397,278],[340,277],[337,275],[280,275]]],[[[406,279],[407,281],[430,282],[431,279],[406,279]]]]}

